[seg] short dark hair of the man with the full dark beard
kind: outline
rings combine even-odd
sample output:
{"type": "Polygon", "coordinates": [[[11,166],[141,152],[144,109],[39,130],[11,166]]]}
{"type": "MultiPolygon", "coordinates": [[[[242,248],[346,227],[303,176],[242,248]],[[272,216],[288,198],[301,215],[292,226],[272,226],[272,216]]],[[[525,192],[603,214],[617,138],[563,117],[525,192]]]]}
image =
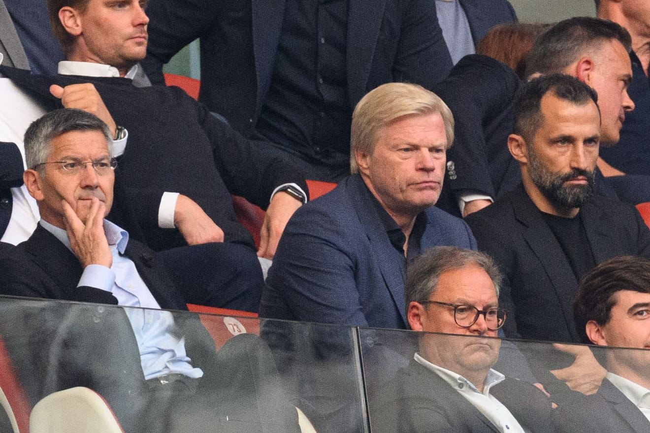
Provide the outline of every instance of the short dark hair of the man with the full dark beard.
{"type": "Polygon", "coordinates": [[[541,99],[549,92],[575,105],[593,102],[598,108],[595,90],[574,77],[552,74],[532,79],[519,87],[513,103],[513,132],[522,136],[526,143],[532,143],[535,132],[544,120],[541,99]]]}

